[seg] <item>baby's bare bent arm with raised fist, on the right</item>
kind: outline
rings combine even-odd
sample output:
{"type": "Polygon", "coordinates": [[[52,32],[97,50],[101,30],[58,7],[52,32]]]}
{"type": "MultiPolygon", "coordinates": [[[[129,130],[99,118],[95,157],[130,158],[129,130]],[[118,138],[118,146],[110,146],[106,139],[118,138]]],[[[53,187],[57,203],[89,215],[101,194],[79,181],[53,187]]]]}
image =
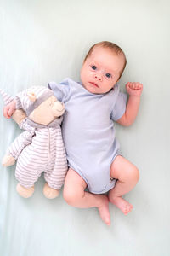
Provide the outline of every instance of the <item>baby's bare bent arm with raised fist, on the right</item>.
{"type": "Polygon", "coordinates": [[[127,83],[127,93],[129,94],[127,108],[121,119],[117,123],[124,126],[132,125],[139,111],[140,96],[143,90],[143,84],[140,83],[127,83]]]}

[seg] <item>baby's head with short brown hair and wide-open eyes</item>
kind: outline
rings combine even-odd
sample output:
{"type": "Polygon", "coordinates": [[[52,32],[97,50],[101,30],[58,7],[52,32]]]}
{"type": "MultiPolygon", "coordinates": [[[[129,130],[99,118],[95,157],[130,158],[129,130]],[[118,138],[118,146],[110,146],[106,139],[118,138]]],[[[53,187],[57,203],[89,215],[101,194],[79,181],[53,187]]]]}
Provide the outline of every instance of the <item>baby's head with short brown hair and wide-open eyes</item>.
{"type": "Polygon", "coordinates": [[[91,93],[106,93],[121,78],[126,63],[124,52],[116,44],[107,41],[94,44],[82,65],[82,85],[91,93]]]}

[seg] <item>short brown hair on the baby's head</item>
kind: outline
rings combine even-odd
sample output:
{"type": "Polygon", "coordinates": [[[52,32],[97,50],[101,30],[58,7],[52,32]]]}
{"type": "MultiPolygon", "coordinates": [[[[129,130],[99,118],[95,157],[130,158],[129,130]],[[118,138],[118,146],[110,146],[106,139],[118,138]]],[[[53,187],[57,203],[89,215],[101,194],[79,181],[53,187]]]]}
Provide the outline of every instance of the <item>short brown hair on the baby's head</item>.
{"type": "Polygon", "coordinates": [[[88,54],[86,55],[85,59],[84,59],[84,62],[88,59],[89,55],[92,54],[93,52],[93,49],[94,47],[97,47],[97,46],[100,46],[100,47],[104,47],[104,48],[109,48],[111,49],[116,55],[123,55],[124,57],[124,65],[122,67],[122,71],[120,73],[120,76],[119,76],[119,79],[120,77],[122,76],[122,73],[127,65],[127,58],[126,58],[126,55],[124,54],[123,50],[121,49],[121,47],[119,47],[118,45],[114,44],[114,43],[111,43],[109,41],[102,41],[102,42],[99,42],[97,44],[94,44],[88,51],[88,54]]]}

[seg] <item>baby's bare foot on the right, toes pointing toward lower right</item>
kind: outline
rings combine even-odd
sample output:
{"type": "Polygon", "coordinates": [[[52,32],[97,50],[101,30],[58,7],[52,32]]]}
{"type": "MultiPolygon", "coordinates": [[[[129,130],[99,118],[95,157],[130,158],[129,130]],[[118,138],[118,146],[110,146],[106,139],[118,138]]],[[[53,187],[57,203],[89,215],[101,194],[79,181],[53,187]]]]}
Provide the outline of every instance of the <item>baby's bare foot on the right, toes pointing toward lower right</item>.
{"type": "Polygon", "coordinates": [[[133,209],[133,206],[126,200],[122,198],[122,196],[116,196],[113,198],[110,198],[110,201],[112,204],[114,204],[116,207],[122,210],[122,212],[127,215],[128,212],[131,212],[133,209]]]}

